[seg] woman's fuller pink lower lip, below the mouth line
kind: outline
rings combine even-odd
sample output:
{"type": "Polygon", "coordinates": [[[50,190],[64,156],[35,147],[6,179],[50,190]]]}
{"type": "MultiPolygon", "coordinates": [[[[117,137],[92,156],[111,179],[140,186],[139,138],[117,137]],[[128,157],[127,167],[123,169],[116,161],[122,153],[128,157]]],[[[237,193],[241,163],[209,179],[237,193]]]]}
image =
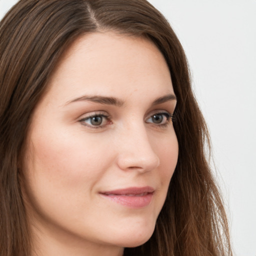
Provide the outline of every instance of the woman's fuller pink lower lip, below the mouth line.
{"type": "Polygon", "coordinates": [[[127,195],[120,195],[120,194],[101,194],[103,197],[112,200],[116,203],[122,204],[129,208],[143,208],[152,200],[153,193],[147,193],[146,195],[142,196],[127,196],[127,195]]]}

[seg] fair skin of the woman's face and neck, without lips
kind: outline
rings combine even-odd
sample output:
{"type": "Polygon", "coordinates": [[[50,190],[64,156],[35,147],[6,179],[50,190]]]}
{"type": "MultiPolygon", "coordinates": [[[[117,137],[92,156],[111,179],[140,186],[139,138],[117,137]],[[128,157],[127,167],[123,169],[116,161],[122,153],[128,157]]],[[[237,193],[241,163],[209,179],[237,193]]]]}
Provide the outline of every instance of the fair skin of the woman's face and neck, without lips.
{"type": "Polygon", "coordinates": [[[98,32],[68,48],[27,136],[22,194],[34,255],[120,256],[149,239],[178,156],[172,121],[162,114],[172,114],[176,100],[153,104],[169,94],[168,67],[147,39],[98,32]],[[92,115],[102,123],[93,125],[92,115]],[[139,208],[100,194],[143,186],[154,192],[139,208]]]}

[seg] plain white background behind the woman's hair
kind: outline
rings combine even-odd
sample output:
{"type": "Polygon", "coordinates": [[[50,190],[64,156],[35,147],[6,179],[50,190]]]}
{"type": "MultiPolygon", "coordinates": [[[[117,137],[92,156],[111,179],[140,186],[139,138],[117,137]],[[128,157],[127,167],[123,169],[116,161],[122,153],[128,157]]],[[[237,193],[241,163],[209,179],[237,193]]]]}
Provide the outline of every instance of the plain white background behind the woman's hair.
{"type": "MultiPolygon", "coordinates": [[[[0,0],[0,17],[15,0],[0,0]]],[[[256,256],[256,0],[150,0],[170,21],[208,123],[236,256],[256,256]]]]}

